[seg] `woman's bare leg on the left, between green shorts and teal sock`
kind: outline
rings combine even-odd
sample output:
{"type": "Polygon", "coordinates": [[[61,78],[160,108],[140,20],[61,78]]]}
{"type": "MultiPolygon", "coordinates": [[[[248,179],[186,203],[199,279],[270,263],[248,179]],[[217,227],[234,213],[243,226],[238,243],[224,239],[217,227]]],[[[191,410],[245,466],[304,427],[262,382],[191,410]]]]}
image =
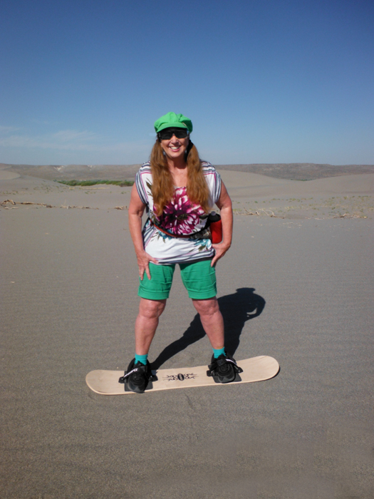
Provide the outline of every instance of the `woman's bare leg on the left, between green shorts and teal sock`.
{"type": "Polygon", "coordinates": [[[165,305],[166,299],[140,298],[139,314],[135,321],[135,352],[137,355],[148,353],[158,326],[158,318],[164,312],[165,305]]]}

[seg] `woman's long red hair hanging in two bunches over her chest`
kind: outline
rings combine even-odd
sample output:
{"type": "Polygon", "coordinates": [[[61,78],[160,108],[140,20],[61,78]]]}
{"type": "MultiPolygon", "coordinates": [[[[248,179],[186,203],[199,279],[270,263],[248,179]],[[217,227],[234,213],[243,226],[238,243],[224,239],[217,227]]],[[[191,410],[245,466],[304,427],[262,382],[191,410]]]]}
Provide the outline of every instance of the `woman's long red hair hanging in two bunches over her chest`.
{"type": "MultiPolygon", "coordinates": [[[[190,201],[200,205],[204,212],[209,212],[209,189],[202,171],[202,161],[197,148],[189,142],[186,150],[187,163],[187,196],[190,201]]],[[[157,217],[162,215],[164,207],[174,195],[172,174],[167,166],[160,141],[157,139],[150,153],[152,170],[152,196],[155,202],[157,217]]]]}

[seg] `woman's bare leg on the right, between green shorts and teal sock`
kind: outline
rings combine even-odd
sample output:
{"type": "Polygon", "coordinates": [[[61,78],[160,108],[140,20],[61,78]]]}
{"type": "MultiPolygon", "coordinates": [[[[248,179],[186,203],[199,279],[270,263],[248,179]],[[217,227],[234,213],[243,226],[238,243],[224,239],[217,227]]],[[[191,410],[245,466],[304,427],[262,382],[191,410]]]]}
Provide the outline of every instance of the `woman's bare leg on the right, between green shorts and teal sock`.
{"type": "Polygon", "coordinates": [[[200,315],[202,326],[207,333],[212,348],[223,349],[224,347],[224,319],[219,311],[217,298],[192,299],[194,308],[200,315]]]}

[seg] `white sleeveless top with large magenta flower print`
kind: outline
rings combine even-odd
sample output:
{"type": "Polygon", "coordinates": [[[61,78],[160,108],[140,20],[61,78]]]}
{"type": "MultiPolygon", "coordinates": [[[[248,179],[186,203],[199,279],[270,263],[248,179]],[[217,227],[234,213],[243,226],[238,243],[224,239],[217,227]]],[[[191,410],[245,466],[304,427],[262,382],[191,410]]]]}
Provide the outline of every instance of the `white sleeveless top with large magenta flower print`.
{"type": "MultiPolygon", "coordinates": [[[[221,178],[210,163],[202,163],[202,170],[209,187],[209,207],[212,208],[221,194],[221,178]]],[[[150,163],[142,165],[137,172],[135,185],[140,200],[146,205],[147,221],[142,230],[145,251],[160,264],[185,263],[214,256],[212,242],[204,238],[207,213],[200,205],[187,197],[187,187],[175,187],[170,203],[160,217],[155,214],[152,197],[152,173],[150,163]],[[166,232],[191,237],[172,237],[164,234],[151,223],[166,232]],[[199,234],[197,234],[199,232],[199,234]]]]}

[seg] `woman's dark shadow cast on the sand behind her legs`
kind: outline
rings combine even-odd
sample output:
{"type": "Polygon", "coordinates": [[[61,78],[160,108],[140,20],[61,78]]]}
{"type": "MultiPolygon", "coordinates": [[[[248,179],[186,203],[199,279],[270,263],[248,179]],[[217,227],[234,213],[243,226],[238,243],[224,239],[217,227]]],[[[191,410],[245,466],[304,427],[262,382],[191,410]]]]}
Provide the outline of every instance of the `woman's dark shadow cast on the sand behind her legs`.
{"type": "MultiPolygon", "coordinates": [[[[234,355],[239,346],[239,338],[244,324],[249,319],[254,319],[261,314],[265,307],[264,298],[254,293],[253,287],[241,287],[236,293],[227,294],[218,299],[219,309],[224,317],[224,344],[227,353],[234,355]]],[[[152,362],[152,369],[160,369],[160,366],[171,359],[178,352],[199,341],[205,336],[202,329],[199,314],[196,314],[183,336],[162,350],[160,355],[152,362]]]]}

